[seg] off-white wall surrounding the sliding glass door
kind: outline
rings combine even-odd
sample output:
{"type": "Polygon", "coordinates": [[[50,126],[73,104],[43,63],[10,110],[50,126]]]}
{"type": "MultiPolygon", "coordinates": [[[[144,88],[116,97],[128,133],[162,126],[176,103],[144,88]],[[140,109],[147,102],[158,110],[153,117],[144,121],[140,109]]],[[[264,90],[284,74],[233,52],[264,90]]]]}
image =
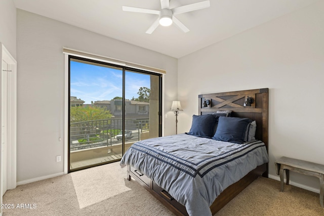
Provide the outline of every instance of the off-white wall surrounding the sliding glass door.
{"type": "Polygon", "coordinates": [[[173,134],[177,59],[84,29],[17,10],[17,181],[63,172],[64,55],[62,47],[165,69],[165,135],[173,134]],[[168,112],[168,113],[167,113],[168,112]],[[62,157],[63,158],[63,157],[62,157]]]}

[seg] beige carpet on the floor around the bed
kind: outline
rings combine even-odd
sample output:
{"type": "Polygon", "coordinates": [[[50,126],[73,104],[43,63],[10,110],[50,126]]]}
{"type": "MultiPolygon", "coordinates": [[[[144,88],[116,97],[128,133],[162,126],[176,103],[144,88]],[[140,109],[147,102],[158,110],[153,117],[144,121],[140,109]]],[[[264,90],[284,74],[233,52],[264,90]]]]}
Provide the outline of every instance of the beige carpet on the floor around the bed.
{"type": "MultiPolygon", "coordinates": [[[[118,162],[20,185],[3,202],[14,205],[3,209],[4,216],[173,215],[137,182],[127,181],[118,162]]],[[[319,194],[294,186],[281,193],[278,181],[259,178],[216,215],[313,216],[324,215],[324,208],[319,194]]]]}

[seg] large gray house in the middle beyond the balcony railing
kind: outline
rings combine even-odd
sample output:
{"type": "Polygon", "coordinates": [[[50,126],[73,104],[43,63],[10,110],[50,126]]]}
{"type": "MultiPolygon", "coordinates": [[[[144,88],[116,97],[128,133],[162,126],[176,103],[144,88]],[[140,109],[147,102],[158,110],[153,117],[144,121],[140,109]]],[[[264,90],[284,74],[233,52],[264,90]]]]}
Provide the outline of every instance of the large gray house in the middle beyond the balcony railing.
{"type": "MultiPolygon", "coordinates": [[[[105,107],[110,110],[116,118],[121,117],[123,113],[123,101],[116,99],[112,101],[95,101],[96,107],[105,107]]],[[[142,101],[125,101],[125,117],[126,118],[148,118],[149,116],[149,103],[142,101]]]]}

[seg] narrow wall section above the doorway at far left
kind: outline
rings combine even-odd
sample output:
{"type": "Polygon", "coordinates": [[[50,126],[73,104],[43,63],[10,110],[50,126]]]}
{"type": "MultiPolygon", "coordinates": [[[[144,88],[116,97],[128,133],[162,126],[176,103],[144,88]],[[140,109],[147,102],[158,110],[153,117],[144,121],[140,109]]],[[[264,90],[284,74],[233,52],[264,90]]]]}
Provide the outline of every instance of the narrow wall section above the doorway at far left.
{"type": "Polygon", "coordinates": [[[13,0],[0,1],[0,42],[16,58],[16,6],[13,0]]]}

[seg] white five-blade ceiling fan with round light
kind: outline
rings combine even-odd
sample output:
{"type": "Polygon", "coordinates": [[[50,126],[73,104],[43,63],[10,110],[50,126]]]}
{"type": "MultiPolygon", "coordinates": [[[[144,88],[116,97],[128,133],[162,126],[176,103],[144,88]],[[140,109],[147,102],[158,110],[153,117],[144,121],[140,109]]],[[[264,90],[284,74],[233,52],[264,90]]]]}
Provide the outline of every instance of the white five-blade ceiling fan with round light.
{"type": "Polygon", "coordinates": [[[188,32],[189,29],[182,22],[180,22],[180,20],[178,20],[174,15],[183,14],[186,12],[196,11],[196,10],[210,7],[210,1],[198,2],[198,3],[180,6],[178,8],[172,8],[172,9],[170,9],[169,0],[160,0],[160,2],[161,2],[160,11],[145,9],[145,8],[134,8],[128,6],[123,6],[123,11],[159,15],[159,17],[153,22],[153,24],[146,31],[146,33],[151,34],[159,24],[162,26],[169,26],[172,23],[178,26],[183,32],[188,32]]]}

